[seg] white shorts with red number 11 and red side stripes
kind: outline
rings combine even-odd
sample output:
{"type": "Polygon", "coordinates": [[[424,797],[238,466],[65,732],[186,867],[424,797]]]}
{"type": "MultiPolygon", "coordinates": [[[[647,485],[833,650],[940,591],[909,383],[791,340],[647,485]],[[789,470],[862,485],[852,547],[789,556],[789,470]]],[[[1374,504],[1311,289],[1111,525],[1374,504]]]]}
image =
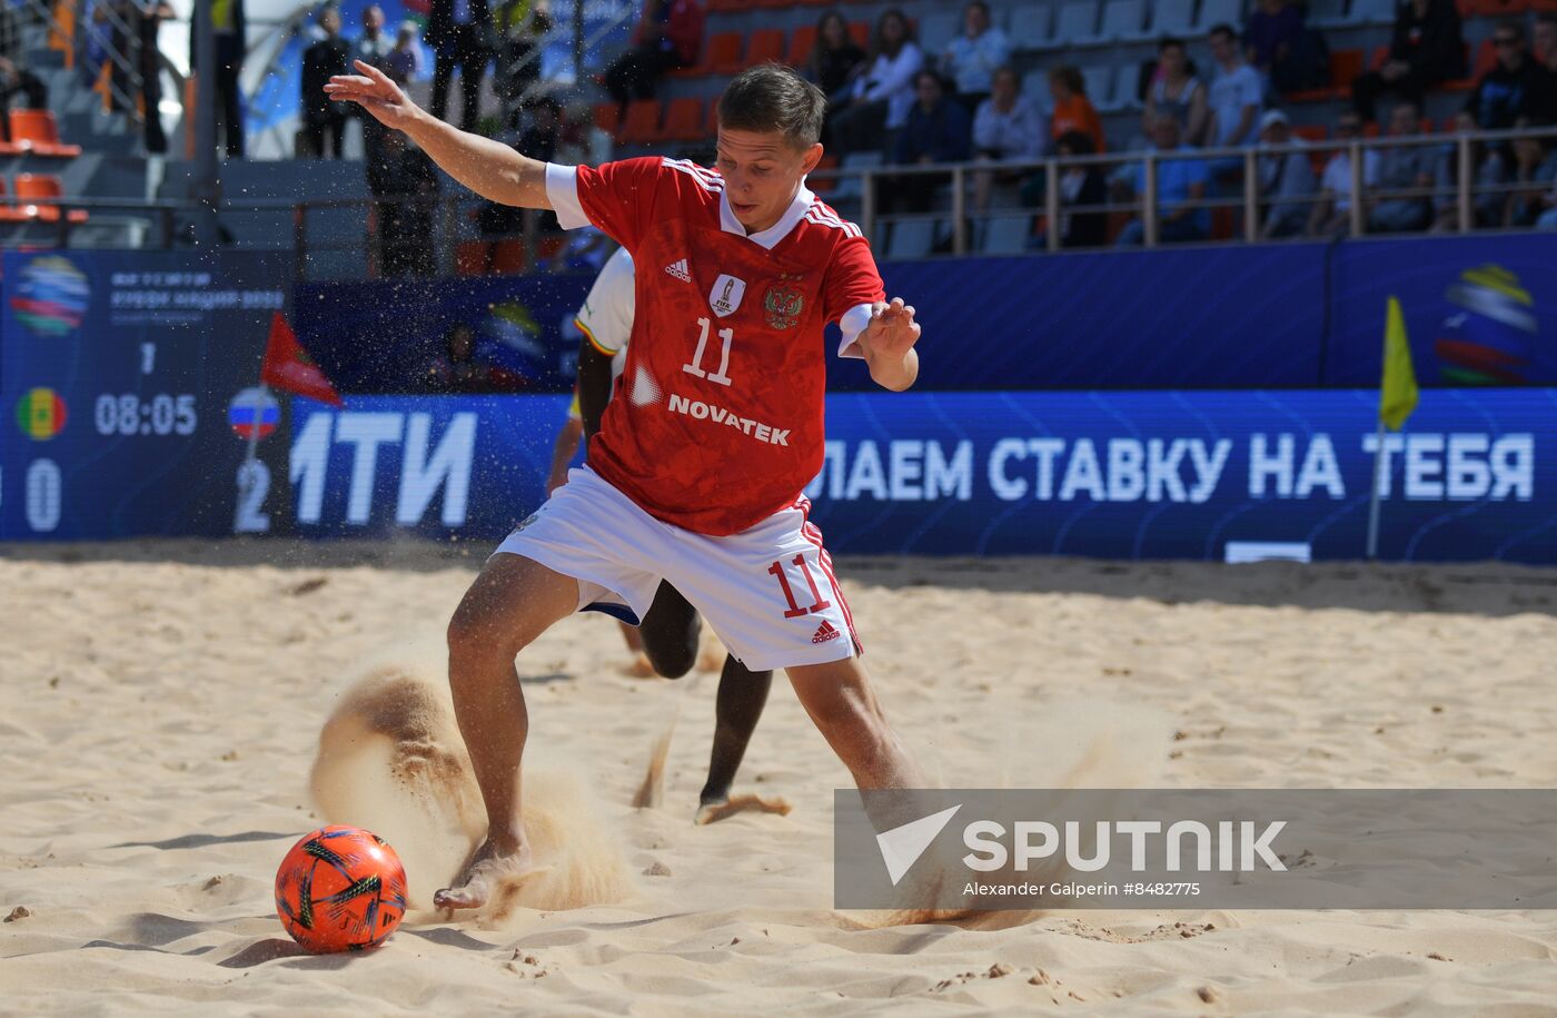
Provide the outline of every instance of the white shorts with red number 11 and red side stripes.
{"type": "Polygon", "coordinates": [[[655,520],[584,467],[492,554],[571,576],[579,610],[634,624],[668,581],[749,669],[821,665],[861,648],[810,509],[802,495],[740,534],[708,537],[655,520]]]}

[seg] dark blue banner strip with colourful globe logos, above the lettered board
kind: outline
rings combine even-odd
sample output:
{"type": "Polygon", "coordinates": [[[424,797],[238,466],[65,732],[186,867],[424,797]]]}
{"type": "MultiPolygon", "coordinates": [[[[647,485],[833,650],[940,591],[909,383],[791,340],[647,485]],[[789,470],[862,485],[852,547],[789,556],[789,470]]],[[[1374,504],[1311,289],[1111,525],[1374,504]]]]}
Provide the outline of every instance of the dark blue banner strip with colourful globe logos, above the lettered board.
{"type": "MultiPolygon", "coordinates": [[[[1557,233],[886,262],[923,325],[917,391],[1378,384],[1398,296],[1425,386],[1557,384],[1557,233]]],[[[571,386],[587,274],[316,283],[297,335],[343,391],[416,392],[455,324],[526,391],[571,386]]],[[[836,330],[828,349],[836,349],[836,330]]],[[[828,388],[875,388],[831,360],[828,388]]]]}

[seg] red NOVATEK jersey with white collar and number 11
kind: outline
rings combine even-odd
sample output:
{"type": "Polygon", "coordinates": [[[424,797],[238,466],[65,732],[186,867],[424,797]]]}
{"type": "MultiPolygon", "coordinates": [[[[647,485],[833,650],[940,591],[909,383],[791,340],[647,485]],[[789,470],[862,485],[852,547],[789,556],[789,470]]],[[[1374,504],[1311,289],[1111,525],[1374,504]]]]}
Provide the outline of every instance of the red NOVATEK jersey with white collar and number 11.
{"type": "MultiPolygon", "coordinates": [[[[802,184],[747,235],[722,177],[679,159],[547,168],[564,227],[593,223],[632,252],[627,361],[589,465],[645,512],[699,534],[744,531],[822,469],[827,350],[842,356],[883,299],[870,244],[802,184]]],[[[853,347],[853,349],[850,349],[853,347]]]]}

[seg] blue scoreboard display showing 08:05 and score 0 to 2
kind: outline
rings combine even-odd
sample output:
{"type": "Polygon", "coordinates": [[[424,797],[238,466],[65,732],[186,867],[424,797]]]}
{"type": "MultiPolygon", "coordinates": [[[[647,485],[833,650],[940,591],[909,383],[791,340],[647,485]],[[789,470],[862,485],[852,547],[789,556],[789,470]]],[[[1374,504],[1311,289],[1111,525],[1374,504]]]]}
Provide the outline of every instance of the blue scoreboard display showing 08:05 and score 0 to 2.
{"type": "Polygon", "coordinates": [[[255,386],[290,268],[271,252],[5,252],[0,540],[280,525],[285,431],[255,386]]]}

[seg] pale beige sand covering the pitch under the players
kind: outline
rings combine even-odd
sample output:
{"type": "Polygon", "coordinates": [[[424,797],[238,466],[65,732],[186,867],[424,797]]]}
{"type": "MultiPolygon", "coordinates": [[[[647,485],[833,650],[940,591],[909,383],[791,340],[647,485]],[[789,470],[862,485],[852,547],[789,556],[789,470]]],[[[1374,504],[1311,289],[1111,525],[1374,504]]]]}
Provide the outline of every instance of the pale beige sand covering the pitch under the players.
{"type": "MultiPolygon", "coordinates": [[[[0,548],[0,918],[17,911],[0,925],[0,1012],[1557,1013],[1554,912],[864,928],[830,907],[830,789],[847,775],[788,685],[774,685],[736,791],[793,809],[694,827],[713,677],[623,676],[620,637],[598,616],[520,658],[529,786],[562,817],[548,851],[582,883],[545,889],[548,907],[462,923],[413,911],[374,953],[297,956],[272,911],[276,865],[350,806],[310,794],[321,727],[375,668],[436,671],[442,623],[484,551],[0,548]],[[634,809],[673,716],[657,805],[634,809]],[[592,898],[609,901],[557,907],[592,898]]],[[[1557,571],[839,568],[886,708],[947,783],[1053,778],[1046,767],[1084,749],[1054,724],[1057,704],[1090,710],[1098,730],[1130,705],[1144,727],[1118,771],[1174,786],[1557,783],[1557,571]],[[1001,738],[990,718],[1006,719],[1001,738]]],[[[353,780],[372,783],[332,778],[353,780]]],[[[405,847],[413,895],[464,844],[469,817],[439,808],[441,827],[405,847]]]]}

